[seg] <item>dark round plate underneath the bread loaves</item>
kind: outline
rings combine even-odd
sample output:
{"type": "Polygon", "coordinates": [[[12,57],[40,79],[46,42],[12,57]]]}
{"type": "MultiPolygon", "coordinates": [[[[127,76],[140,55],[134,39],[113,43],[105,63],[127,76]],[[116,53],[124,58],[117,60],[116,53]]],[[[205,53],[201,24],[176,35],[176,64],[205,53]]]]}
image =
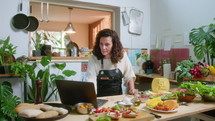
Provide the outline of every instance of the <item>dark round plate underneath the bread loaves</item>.
{"type": "Polygon", "coordinates": [[[66,117],[72,111],[70,106],[64,105],[64,104],[61,104],[61,103],[44,103],[44,104],[51,105],[53,107],[60,107],[60,108],[67,109],[68,113],[66,113],[64,115],[58,115],[58,116],[55,116],[55,117],[44,118],[44,119],[26,118],[26,117],[22,117],[22,116],[20,116],[20,117],[23,118],[25,121],[53,121],[53,120],[58,120],[58,119],[66,117]]]}

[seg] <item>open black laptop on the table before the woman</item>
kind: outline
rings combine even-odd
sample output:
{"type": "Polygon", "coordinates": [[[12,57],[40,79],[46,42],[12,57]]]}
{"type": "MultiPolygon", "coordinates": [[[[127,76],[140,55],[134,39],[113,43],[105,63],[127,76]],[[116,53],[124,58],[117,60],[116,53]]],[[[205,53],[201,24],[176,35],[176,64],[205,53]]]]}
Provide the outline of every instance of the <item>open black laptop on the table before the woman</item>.
{"type": "Polygon", "coordinates": [[[66,105],[75,105],[80,102],[92,103],[95,108],[105,104],[108,100],[97,99],[92,82],[56,80],[61,102],[66,105]]]}

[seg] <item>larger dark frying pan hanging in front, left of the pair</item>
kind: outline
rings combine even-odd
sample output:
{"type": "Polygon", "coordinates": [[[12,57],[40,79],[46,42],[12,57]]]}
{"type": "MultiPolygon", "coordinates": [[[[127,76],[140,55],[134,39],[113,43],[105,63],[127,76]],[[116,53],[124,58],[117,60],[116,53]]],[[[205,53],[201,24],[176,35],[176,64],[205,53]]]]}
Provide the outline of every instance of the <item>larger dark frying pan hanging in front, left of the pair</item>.
{"type": "MultiPolygon", "coordinates": [[[[20,12],[22,11],[22,3],[19,5],[20,12]]],[[[13,16],[12,24],[16,29],[25,29],[29,25],[29,18],[23,13],[18,13],[13,16]]]]}

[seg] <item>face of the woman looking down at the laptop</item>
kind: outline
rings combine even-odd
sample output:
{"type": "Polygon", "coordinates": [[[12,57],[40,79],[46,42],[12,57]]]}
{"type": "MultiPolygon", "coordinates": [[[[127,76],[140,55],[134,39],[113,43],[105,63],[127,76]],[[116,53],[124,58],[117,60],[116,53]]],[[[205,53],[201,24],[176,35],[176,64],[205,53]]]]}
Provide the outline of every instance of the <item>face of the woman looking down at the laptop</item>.
{"type": "Polygon", "coordinates": [[[102,55],[104,55],[106,59],[109,59],[111,57],[111,50],[113,47],[112,38],[101,37],[99,47],[101,49],[102,55]]]}

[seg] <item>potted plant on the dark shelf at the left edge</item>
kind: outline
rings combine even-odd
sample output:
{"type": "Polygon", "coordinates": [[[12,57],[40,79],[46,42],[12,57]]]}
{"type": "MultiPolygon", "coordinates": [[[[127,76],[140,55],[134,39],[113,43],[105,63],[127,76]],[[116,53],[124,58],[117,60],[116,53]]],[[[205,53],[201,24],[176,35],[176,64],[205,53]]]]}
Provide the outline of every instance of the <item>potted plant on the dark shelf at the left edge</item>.
{"type": "Polygon", "coordinates": [[[15,61],[17,46],[10,43],[10,37],[5,40],[0,40],[0,68],[1,74],[10,73],[10,63],[15,61]]]}

